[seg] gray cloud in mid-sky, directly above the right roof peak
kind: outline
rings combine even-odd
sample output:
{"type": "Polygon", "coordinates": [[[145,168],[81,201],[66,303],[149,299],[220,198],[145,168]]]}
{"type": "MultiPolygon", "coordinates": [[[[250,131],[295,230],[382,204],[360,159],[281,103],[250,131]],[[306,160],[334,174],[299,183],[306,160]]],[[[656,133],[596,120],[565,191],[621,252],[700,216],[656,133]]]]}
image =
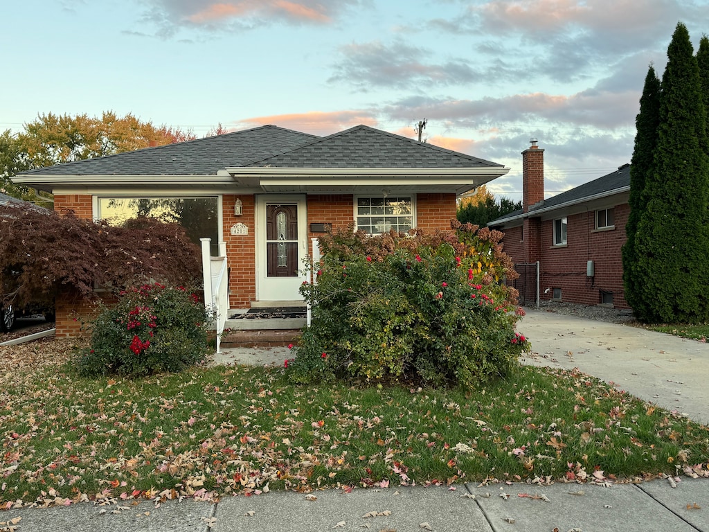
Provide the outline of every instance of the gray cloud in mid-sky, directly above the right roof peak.
{"type": "Polygon", "coordinates": [[[481,72],[474,70],[467,60],[449,59],[427,62],[432,52],[401,40],[385,45],[379,41],[352,43],[340,47],[344,60],[335,66],[335,74],[328,81],[345,82],[357,89],[368,87],[417,87],[466,84],[482,81],[481,72]]]}

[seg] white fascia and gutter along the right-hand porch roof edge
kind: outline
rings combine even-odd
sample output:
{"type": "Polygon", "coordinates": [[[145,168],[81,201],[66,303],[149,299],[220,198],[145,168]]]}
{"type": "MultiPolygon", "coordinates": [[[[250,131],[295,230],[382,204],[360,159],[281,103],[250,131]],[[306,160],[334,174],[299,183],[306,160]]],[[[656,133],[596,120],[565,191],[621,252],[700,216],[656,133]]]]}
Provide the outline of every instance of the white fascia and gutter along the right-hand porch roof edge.
{"type": "Polygon", "coordinates": [[[234,167],[227,168],[233,177],[264,177],[281,179],[301,179],[302,177],[340,177],[342,179],[366,178],[381,179],[390,176],[454,177],[485,176],[500,177],[510,171],[507,167],[454,167],[454,168],[286,168],[286,167],[234,167]]]}

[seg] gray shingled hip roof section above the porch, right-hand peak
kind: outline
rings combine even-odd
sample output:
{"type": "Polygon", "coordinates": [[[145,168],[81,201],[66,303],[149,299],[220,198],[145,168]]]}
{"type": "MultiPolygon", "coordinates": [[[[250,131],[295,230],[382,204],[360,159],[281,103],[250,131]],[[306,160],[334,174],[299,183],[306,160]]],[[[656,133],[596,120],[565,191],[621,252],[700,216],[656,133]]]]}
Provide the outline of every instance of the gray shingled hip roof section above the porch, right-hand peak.
{"type": "Polygon", "coordinates": [[[254,161],[248,166],[452,168],[502,167],[503,165],[360,125],[328,137],[318,138],[286,153],[254,161]]]}

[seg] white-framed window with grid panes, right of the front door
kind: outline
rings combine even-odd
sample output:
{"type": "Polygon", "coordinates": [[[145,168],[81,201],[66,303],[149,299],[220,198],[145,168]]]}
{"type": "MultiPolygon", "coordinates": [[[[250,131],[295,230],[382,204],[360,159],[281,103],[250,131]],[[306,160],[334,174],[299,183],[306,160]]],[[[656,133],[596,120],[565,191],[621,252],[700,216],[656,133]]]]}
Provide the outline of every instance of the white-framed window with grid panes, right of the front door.
{"type": "Polygon", "coordinates": [[[357,229],[370,235],[389,233],[391,229],[406,233],[413,228],[411,196],[358,197],[355,221],[357,229]]]}

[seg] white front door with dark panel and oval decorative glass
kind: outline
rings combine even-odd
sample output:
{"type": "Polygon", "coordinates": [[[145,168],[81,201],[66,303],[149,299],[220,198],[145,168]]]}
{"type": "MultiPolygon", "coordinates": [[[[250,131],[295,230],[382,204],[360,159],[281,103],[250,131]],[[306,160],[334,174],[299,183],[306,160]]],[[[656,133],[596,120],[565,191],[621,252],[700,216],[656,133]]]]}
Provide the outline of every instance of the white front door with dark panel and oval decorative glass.
{"type": "Polygon", "coordinates": [[[306,197],[257,196],[257,268],[259,301],[302,301],[298,292],[308,253],[306,197]]]}

